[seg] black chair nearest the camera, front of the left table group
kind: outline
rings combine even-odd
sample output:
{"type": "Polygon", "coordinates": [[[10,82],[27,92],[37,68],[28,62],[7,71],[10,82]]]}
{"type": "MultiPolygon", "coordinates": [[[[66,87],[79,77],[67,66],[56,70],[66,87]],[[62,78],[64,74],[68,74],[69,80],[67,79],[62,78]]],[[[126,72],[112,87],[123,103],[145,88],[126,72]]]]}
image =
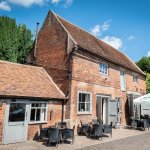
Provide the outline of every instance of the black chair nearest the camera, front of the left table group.
{"type": "Polygon", "coordinates": [[[56,143],[56,147],[58,147],[58,143],[60,141],[60,132],[58,128],[49,128],[48,129],[48,146],[50,146],[51,142],[56,143]]]}

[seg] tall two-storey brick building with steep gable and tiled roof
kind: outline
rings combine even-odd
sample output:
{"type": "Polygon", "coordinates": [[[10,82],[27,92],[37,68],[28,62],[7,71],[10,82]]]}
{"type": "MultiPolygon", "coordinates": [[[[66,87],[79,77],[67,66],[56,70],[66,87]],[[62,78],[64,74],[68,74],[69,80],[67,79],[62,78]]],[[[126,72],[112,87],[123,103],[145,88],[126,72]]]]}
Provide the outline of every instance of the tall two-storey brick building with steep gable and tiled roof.
{"type": "Polygon", "coordinates": [[[65,120],[126,124],[127,98],[146,93],[145,74],[124,53],[50,11],[29,63],[45,68],[68,100],[65,120]]]}

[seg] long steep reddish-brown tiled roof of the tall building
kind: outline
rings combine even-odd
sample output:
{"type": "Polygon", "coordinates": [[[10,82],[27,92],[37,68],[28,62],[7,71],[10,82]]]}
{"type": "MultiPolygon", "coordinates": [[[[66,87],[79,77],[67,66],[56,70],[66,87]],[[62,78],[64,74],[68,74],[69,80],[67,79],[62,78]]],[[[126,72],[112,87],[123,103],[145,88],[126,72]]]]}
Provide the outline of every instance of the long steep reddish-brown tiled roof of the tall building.
{"type": "Polygon", "coordinates": [[[82,49],[90,51],[108,61],[145,75],[124,53],[116,50],[90,33],[54,14],[67,30],[71,38],[82,49]]]}

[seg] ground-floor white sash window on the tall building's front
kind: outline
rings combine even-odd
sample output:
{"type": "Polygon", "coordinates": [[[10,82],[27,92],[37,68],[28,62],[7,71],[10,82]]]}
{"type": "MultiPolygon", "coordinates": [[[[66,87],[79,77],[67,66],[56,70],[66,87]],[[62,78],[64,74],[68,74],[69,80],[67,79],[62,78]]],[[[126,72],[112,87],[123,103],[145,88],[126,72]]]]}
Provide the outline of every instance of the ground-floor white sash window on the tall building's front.
{"type": "Polygon", "coordinates": [[[91,94],[90,93],[79,92],[78,112],[79,113],[90,113],[91,112],[91,94]]]}

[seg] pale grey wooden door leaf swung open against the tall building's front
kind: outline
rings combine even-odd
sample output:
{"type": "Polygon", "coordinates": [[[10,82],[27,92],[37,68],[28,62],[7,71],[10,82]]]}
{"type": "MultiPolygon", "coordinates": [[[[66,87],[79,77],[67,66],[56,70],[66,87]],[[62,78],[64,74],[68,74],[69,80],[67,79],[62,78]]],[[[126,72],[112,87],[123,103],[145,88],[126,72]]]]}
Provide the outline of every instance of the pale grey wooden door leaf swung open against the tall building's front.
{"type": "Polygon", "coordinates": [[[108,124],[117,120],[117,100],[108,101],[108,124]]]}

